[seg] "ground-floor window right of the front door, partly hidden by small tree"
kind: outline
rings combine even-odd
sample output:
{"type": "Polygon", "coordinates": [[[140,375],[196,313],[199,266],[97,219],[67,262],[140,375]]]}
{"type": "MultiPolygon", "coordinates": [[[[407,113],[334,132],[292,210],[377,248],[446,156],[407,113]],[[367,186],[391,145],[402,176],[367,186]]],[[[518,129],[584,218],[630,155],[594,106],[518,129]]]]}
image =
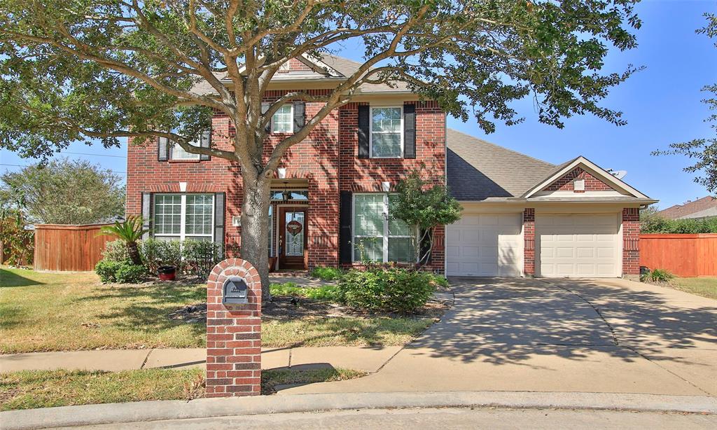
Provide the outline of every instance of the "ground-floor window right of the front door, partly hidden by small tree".
{"type": "Polygon", "coordinates": [[[389,214],[392,196],[353,195],[353,261],[413,262],[411,228],[389,214]]]}

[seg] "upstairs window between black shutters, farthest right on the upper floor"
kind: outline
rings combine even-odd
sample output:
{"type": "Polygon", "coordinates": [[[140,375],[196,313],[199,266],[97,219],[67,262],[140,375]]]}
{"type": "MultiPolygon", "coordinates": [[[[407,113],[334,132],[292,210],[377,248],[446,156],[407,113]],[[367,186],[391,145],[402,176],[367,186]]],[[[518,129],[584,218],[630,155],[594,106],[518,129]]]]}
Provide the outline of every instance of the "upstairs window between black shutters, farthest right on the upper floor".
{"type": "Polygon", "coordinates": [[[371,158],[403,156],[403,108],[371,108],[371,158]]]}

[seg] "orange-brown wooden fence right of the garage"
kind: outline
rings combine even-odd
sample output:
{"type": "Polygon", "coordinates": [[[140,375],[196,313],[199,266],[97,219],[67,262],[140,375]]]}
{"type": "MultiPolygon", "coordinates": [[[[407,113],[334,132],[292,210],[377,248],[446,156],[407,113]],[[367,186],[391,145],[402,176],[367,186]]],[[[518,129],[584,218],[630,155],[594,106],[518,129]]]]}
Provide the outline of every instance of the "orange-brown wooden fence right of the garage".
{"type": "Polygon", "coordinates": [[[640,266],[717,276],[717,234],[640,234],[640,266]]]}

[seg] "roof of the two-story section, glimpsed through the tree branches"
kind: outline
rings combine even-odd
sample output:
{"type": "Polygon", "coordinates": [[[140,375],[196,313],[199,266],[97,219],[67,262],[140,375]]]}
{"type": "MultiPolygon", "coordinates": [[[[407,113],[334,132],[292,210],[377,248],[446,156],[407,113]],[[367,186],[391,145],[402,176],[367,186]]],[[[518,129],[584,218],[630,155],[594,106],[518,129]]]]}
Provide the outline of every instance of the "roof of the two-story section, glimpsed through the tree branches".
{"type": "MultiPolygon", "coordinates": [[[[304,55],[299,59],[305,65],[311,67],[312,70],[296,70],[290,72],[277,73],[272,82],[300,82],[300,81],[327,81],[336,82],[346,80],[347,77],[353,75],[361,67],[360,62],[351,59],[339,57],[333,54],[322,54],[320,59],[315,59],[308,55],[304,55]]],[[[243,68],[242,68],[243,70],[243,68]]],[[[240,71],[242,71],[240,70],[240,71]]],[[[231,84],[232,81],[227,77],[227,73],[215,74],[219,80],[225,84],[231,84]]],[[[298,85],[300,86],[300,84],[298,85]]],[[[194,92],[201,95],[216,94],[216,91],[209,85],[209,82],[201,80],[192,88],[194,92]]],[[[389,93],[389,92],[411,92],[406,82],[393,82],[389,84],[364,84],[359,87],[359,93],[389,93]]]]}

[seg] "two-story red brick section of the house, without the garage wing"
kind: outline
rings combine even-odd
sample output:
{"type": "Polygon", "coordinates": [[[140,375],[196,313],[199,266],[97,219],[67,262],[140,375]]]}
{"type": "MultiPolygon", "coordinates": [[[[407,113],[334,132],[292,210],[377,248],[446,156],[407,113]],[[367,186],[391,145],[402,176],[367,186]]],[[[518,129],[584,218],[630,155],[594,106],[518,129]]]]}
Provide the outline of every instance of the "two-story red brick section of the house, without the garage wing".
{"type": "MultiPolygon", "coordinates": [[[[265,101],[293,90],[321,94],[357,67],[333,56],[318,64],[293,59],[265,101]]],[[[272,118],[269,139],[293,133],[321,106],[284,105],[272,118]]],[[[197,144],[229,149],[233,133],[228,118],[215,115],[211,135],[197,144]]],[[[388,213],[390,192],[415,168],[442,180],[445,159],[445,113],[435,102],[419,101],[405,85],[362,86],[353,102],[328,115],[283,158],[269,214],[267,252],[277,257],[274,269],[411,261],[410,231],[388,213]]],[[[241,205],[238,166],[229,161],[186,153],[164,139],[129,145],[127,211],[150,219],[153,236],[239,244],[241,205]]],[[[442,271],[442,228],[435,237],[429,267],[442,271]]]]}

